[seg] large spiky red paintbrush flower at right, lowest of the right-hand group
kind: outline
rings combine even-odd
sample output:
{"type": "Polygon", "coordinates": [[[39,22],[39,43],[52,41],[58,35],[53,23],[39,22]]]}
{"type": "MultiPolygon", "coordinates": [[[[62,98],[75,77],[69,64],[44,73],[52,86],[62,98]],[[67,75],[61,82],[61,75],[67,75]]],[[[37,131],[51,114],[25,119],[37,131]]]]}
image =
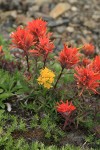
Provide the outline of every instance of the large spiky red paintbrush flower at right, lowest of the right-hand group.
{"type": "Polygon", "coordinates": [[[76,67],[75,71],[74,76],[82,92],[86,89],[98,93],[96,89],[100,86],[100,74],[95,73],[89,66],[87,68],[76,67]]]}

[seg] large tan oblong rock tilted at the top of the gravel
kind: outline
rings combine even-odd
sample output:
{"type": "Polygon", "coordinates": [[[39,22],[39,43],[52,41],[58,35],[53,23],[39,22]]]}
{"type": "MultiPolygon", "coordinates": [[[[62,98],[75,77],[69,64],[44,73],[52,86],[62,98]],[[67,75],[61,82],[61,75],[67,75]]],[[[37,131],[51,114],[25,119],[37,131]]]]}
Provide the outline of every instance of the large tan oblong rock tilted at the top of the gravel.
{"type": "Polygon", "coordinates": [[[51,10],[50,17],[57,18],[70,8],[71,6],[68,3],[59,3],[51,10]]]}

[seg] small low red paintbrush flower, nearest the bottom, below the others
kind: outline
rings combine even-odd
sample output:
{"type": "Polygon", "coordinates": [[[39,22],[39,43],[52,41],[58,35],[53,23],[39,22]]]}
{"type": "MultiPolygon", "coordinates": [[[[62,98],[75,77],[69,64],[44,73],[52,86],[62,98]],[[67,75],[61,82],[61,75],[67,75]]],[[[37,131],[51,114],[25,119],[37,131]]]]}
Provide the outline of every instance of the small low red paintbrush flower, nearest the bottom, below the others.
{"type": "Polygon", "coordinates": [[[68,114],[76,109],[72,102],[68,102],[68,100],[65,103],[63,101],[60,101],[60,103],[57,103],[56,108],[59,113],[67,112],[68,114]]]}

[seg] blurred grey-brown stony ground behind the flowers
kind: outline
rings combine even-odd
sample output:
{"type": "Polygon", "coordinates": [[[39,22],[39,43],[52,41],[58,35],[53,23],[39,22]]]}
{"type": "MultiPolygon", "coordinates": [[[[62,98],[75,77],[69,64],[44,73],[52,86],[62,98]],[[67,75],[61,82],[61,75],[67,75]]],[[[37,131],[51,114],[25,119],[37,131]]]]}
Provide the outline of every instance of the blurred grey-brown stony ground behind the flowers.
{"type": "Polygon", "coordinates": [[[8,38],[12,28],[42,17],[54,33],[56,50],[63,42],[92,42],[99,53],[99,6],[99,0],[0,0],[0,34],[8,38]]]}

